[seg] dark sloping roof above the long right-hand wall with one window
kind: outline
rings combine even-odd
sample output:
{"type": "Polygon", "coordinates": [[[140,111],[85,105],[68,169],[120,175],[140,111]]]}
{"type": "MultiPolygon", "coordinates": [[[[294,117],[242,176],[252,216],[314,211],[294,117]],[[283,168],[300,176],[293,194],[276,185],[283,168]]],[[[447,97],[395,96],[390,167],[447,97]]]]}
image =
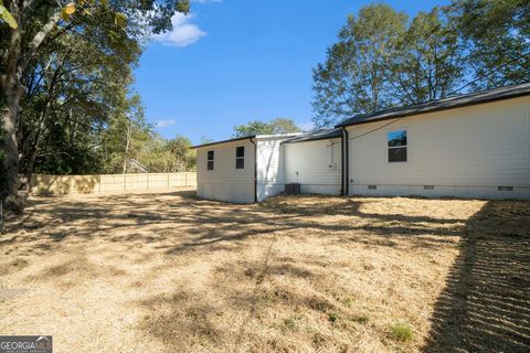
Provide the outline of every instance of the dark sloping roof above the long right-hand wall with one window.
{"type": "Polygon", "coordinates": [[[431,113],[431,111],[453,109],[458,107],[465,107],[465,106],[470,106],[470,105],[476,105],[481,103],[515,98],[515,97],[527,96],[527,95],[530,95],[530,83],[506,86],[506,87],[488,89],[488,90],[481,90],[481,92],[471,93],[467,95],[460,95],[456,97],[416,104],[413,106],[391,108],[388,110],[378,111],[373,114],[358,115],[338,124],[336,128],[358,125],[358,124],[368,124],[368,122],[379,121],[379,120],[401,118],[401,117],[413,116],[413,115],[431,113]]]}

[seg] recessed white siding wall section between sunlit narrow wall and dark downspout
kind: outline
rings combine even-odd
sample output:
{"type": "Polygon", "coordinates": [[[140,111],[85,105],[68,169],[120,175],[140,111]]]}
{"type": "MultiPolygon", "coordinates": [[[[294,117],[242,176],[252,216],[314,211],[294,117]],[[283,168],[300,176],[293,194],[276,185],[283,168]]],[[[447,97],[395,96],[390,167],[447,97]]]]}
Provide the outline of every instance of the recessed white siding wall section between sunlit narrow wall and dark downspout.
{"type": "Polygon", "coordinates": [[[340,194],[340,138],[284,145],[285,182],[300,183],[301,193],[340,194]]]}

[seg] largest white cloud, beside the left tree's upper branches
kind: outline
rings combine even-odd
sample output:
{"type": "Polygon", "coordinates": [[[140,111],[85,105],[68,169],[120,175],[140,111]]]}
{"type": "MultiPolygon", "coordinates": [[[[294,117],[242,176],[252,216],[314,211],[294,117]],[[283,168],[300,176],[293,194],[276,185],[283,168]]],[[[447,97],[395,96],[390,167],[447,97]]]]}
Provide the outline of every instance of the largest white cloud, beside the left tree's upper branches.
{"type": "Polygon", "coordinates": [[[152,35],[152,40],[167,45],[186,46],[199,41],[201,36],[206,35],[197,24],[189,23],[192,14],[177,12],[171,18],[173,29],[166,33],[152,35]]]}

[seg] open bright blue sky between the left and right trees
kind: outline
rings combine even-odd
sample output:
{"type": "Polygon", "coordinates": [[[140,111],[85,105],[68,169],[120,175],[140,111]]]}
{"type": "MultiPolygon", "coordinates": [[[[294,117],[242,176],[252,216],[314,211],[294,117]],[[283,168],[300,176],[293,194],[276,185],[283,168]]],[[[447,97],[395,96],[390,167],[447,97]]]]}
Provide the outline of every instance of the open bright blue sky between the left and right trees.
{"type": "MultiPolygon", "coordinates": [[[[153,39],[136,69],[146,115],[166,138],[232,137],[275,117],[310,126],[311,68],[363,0],[194,0],[189,17],[153,39]]],[[[448,1],[393,0],[414,15],[448,1]]]]}

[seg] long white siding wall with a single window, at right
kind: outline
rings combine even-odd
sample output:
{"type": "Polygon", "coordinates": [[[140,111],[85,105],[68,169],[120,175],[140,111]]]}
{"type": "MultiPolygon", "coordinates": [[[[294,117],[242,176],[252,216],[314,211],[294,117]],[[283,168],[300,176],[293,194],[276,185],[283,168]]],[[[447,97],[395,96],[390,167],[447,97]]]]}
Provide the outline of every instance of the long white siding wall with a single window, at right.
{"type": "Polygon", "coordinates": [[[530,199],[530,97],[407,117],[356,138],[389,121],[347,128],[350,194],[530,199]],[[395,130],[407,131],[407,162],[388,161],[395,130]]]}

